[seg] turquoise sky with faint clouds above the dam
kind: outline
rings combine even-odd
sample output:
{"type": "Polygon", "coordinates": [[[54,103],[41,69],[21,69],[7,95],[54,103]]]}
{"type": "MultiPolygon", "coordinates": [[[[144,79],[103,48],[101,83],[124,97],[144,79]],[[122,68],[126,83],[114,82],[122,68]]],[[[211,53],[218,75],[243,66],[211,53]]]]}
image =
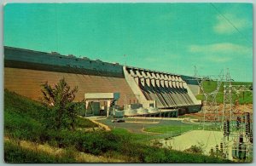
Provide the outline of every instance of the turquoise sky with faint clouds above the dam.
{"type": "Polygon", "coordinates": [[[253,81],[249,3],[16,3],[3,16],[6,46],[253,81]]]}

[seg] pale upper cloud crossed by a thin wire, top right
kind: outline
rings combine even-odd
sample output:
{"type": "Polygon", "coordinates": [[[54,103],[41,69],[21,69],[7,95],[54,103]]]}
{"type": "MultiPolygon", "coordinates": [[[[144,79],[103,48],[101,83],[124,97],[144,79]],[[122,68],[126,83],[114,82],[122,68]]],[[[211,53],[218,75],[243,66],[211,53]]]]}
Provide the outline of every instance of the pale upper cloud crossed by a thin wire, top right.
{"type": "MultiPolygon", "coordinates": [[[[253,26],[252,21],[238,17],[234,14],[224,14],[224,17],[230,20],[230,22],[240,31],[253,26]]],[[[227,35],[237,32],[236,29],[231,26],[230,22],[224,19],[224,17],[222,15],[217,15],[217,24],[213,26],[213,30],[218,34],[227,35]]]]}

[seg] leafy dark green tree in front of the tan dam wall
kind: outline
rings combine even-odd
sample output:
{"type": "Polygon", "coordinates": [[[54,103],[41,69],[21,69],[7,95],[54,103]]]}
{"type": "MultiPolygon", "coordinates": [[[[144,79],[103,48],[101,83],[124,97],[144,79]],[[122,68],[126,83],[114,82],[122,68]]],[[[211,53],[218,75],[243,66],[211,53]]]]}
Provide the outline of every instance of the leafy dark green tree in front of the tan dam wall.
{"type": "Polygon", "coordinates": [[[73,103],[78,87],[71,89],[64,78],[53,87],[48,82],[41,85],[43,99],[46,106],[46,127],[48,129],[74,129],[77,116],[76,105],[73,103]]]}

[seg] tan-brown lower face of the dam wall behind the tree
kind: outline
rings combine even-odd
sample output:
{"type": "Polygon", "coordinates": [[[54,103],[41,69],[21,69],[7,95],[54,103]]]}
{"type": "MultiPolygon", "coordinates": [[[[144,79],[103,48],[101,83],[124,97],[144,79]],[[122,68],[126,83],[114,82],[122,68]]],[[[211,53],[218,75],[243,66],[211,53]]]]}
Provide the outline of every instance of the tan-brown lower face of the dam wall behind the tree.
{"type": "Polygon", "coordinates": [[[83,100],[84,93],[119,92],[120,98],[117,105],[137,103],[137,98],[126,83],[125,78],[121,77],[102,77],[5,67],[4,88],[33,100],[39,100],[42,97],[40,86],[42,83],[47,81],[50,85],[54,85],[63,77],[72,88],[79,87],[75,101],[83,100]]]}

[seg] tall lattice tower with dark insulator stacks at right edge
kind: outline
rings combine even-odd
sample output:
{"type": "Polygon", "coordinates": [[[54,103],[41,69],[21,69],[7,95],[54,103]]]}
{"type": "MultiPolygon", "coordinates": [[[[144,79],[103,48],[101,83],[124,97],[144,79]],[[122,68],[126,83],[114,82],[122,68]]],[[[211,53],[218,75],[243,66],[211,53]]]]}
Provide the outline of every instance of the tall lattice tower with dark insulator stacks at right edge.
{"type": "Polygon", "coordinates": [[[233,104],[234,95],[251,91],[246,85],[233,85],[229,69],[225,73],[224,81],[224,106],[222,112],[222,129],[224,132],[223,146],[224,156],[227,158],[247,158],[252,152],[253,131],[252,118],[249,112],[235,117],[236,108],[233,104]],[[234,153],[234,154],[233,154],[234,153]]]}

